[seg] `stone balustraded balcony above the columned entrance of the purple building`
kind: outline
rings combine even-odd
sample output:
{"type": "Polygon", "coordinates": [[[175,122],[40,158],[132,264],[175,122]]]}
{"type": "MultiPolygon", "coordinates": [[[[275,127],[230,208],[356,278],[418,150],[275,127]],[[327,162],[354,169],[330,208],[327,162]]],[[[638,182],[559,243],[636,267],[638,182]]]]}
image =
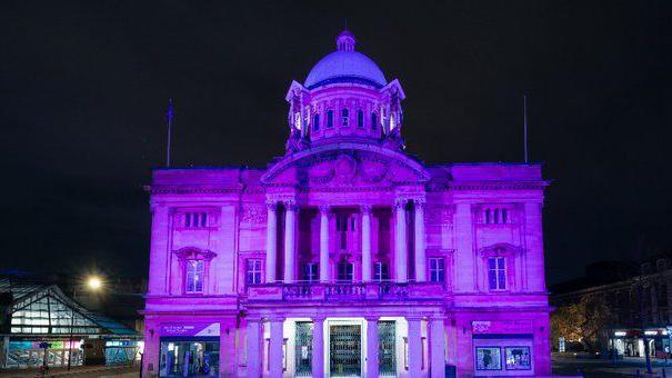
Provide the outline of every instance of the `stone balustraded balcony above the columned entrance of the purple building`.
{"type": "Polygon", "coordinates": [[[261,284],[248,287],[248,301],[442,300],[448,292],[435,282],[261,284]]]}

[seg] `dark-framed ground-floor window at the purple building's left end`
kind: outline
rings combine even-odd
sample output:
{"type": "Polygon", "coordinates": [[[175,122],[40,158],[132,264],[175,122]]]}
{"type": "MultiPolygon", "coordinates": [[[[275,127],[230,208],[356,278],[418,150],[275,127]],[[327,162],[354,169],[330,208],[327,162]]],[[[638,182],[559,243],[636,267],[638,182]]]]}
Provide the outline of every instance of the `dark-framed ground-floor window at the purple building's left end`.
{"type": "Polygon", "coordinates": [[[219,340],[162,339],[159,376],[219,376],[219,340]]]}

